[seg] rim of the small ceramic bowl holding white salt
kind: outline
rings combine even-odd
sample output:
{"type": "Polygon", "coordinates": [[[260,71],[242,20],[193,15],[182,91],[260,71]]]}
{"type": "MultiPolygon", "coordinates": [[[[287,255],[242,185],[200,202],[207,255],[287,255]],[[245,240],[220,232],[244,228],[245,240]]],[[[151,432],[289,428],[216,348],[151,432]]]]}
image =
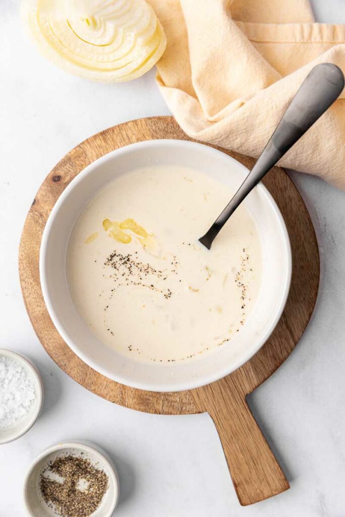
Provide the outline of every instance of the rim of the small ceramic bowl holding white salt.
{"type": "MultiPolygon", "coordinates": [[[[37,367],[31,360],[29,360],[27,357],[23,356],[19,352],[13,352],[12,350],[9,350],[8,348],[0,348],[0,356],[9,357],[10,359],[13,359],[15,361],[19,361],[20,363],[25,364],[25,367],[31,372],[34,379],[36,379],[36,398],[38,400],[37,408],[35,412],[33,412],[33,415],[31,419],[29,419],[27,425],[24,427],[21,427],[17,433],[13,433],[9,438],[2,439],[0,434],[0,445],[8,444],[10,442],[14,442],[14,440],[17,440],[21,436],[23,436],[27,431],[29,431],[33,425],[35,424],[36,420],[41,414],[42,407],[43,407],[43,398],[44,398],[44,388],[43,388],[43,381],[41,374],[39,373],[37,367]]],[[[18,420],[18,424],[20,423],[20,420],[18,420]]]]}

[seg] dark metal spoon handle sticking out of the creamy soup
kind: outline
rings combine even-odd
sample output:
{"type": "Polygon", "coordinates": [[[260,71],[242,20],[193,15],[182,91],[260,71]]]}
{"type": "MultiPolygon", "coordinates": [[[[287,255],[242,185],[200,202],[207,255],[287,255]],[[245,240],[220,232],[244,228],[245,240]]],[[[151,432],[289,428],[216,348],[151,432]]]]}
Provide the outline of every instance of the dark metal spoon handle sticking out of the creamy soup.
{"type": "Polygon", "coordinates": [[[200,242],[208,249],[229,217],[277,161],[333,104],[344,87],[340,68],[331,63],[314,67],[298,89],[276,130],[241,187],[200,242]]]}

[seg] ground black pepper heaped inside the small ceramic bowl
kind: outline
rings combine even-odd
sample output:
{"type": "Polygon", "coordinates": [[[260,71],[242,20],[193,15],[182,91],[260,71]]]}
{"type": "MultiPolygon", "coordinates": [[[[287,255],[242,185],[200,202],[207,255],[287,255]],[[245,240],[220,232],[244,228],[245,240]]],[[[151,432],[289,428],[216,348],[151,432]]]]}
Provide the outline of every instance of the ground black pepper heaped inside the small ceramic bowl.
{"type": "Polygon", "coordinates": [[[62,517],[89,517],[99,507],[107,489],[107,474],[86,458],[72,454],[58,456],[40,478],[44,501],[62,517]],[[52,479],[52,475],[63,481],[52,479]]]}

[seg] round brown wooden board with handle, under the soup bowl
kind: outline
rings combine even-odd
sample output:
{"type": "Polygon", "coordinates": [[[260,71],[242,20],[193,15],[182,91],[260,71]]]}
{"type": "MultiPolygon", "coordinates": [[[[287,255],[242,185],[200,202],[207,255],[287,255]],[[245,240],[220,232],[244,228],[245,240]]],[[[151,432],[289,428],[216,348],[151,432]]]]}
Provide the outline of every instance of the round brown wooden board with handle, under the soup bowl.
{"type": "MultiPolygon", "coordinates": [[[[313,311],[320,264],[307,208],[288,175],[275,167],[263,183],[287,223],[293,254],[287,306],[272,336],[243,367],[218,382],[174,393],[156,393],[115,383],[86,366],[57,333],[48,315],[39,281],[39,248],[44,225],[58,196],[86,165],[113,149],[152,139],[190,140],[172,117],[132,120],[95,134],[72,149],[43,181],[25,221],[19,270],[25,305],[37,336],[51,358],[70,377],[97,395],[123,406],[162,415],[208,412],[228,462],[241,505],[256,503],[289,488],[262,435],[246,396],[280,366],[295,347],[313,311]]],[[[254,160],[224,150],[248,168],[254,160]]],[[[288,399],[282,401],[282,410],[288,399]]]]}

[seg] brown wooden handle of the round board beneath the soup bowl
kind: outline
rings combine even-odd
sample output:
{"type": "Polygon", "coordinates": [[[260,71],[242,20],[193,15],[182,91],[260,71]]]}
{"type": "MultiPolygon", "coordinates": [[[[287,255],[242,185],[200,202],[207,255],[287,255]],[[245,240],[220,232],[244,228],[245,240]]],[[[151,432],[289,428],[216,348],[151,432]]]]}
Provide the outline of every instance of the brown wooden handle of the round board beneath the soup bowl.
{"type": "Polygon", "coordinates": [[[290,488],[273,452],[231,376],[192,391],[201,411],[213,419],[242,506],[290,488]]]}

